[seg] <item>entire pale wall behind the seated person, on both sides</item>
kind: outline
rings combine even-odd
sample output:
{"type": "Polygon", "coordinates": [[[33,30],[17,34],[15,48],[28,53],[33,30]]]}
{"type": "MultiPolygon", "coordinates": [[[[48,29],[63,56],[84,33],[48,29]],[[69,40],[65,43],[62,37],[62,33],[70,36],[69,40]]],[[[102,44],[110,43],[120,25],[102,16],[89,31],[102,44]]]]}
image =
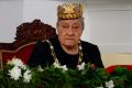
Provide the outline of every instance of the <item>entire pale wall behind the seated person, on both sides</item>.
{"type": "Polygon", "coordinates": [[[56,7],[67,1],[84,3],[82,40],[98,44],[101,52],[132,53],[131,0],[2,0],[0,42],[13,42],[22,22],[41,19],[55,26],[56,7]]]}

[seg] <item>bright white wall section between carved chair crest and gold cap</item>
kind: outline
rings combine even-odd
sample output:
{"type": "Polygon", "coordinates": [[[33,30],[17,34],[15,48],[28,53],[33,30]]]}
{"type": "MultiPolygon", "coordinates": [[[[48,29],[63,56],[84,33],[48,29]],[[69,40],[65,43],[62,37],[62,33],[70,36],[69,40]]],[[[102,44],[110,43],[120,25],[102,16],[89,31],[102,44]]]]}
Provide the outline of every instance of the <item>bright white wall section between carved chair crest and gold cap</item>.
{"type": "Polygon", "coordinates": [[[55,0],[24,0],[23,22],[41,19],[55,28],[56,7],[59,3],[55,0]]]}

